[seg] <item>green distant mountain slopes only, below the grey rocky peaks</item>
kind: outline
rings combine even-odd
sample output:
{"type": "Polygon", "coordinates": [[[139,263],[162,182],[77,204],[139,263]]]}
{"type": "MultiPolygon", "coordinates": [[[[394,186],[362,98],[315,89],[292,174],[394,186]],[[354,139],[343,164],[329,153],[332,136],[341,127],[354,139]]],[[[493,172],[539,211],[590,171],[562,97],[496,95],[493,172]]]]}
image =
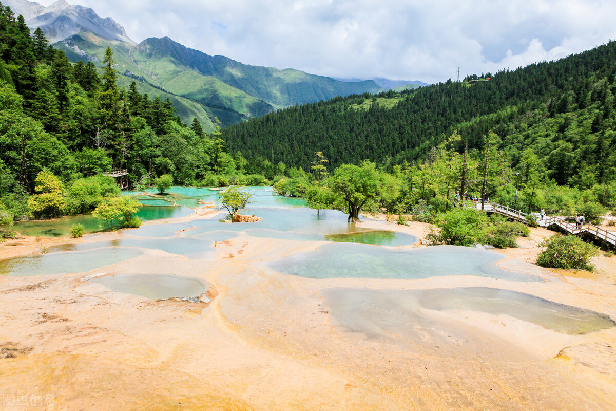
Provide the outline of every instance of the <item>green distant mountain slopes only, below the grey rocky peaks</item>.
{"type": "MultiPolygon", "coordinates": [[[[97,65],[102,62],[105,49],[111,47],[118,73],[143,83],[140,87],[144,90],[148,85],[201,104],[203,108],[197,110],[193,104],[187,105],[186,100],[171,99],[185,123],[192,121],[186,116],[195,114],[195,110],[208,113],[209,120],[202,121],[208,129],[214,116],[227,126],[290,105],[383,90],[374,81],[346,82],[291,68],[245,65],[188,49],[169,38],[150,38],[134,46],[82,31],[54,47],[64,51],[73,62],[91,60],[97,65]]],[[[204,118],[203,113],[197,118],[204,118]]]]}

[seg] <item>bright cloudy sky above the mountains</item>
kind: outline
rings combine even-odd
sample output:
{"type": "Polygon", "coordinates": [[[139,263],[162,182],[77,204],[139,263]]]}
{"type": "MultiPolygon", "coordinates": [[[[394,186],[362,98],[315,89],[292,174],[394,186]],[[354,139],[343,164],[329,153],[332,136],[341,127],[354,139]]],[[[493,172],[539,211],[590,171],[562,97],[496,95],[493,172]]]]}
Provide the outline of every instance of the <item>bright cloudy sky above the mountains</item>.
{"type": "MultiPolygon", "coordinates": [[[[48,6],[53,1],[39,0],[48,6]]],[[[614,0],[69,0],[139,43],[334,78],[456,79],[616,39],[614,0]]]]}

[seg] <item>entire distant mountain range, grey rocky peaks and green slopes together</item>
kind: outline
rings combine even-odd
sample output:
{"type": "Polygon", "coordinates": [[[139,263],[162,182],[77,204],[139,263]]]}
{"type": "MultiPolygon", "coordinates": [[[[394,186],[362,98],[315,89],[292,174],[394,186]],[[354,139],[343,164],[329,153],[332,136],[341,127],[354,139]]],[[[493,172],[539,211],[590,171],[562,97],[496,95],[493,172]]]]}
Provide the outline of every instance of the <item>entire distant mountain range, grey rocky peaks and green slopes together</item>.
{"type": "Polygon", "coordinates": [[[124,76],[120,84],[136,81],[139,91],[150,97],[169,97],[182,120],[190,123],[197,118],[208,130],[213,129],[215,116],[229,125],[295,104],[427,85],[383,78],[342,81],[293,68],[245,65],[189,49],[167,37],[136,44],[111,18],[100,18],[91,8],[65,0],[49,7],[28,0],[2,3],[15,15],[22,14],[32,30],[40,27],[73,62],[100,64],[105,49],[111,47],[116,70],[124,76]]]}

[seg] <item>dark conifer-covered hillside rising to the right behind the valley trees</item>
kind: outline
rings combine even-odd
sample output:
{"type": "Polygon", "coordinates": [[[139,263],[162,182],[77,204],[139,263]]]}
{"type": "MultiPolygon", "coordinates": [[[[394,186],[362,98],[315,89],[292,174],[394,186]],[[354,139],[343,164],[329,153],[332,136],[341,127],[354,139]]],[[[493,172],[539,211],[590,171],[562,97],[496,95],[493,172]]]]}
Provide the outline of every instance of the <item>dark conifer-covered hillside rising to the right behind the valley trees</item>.
{"type": "MultiPolygon", "coordinates": [[[[602,179],[614,167],[616,43],[556,62],[471,76],[456,83],[299,105],[224,129],[230,147],[308,167],[315,151],[331,165],[376,161],[391,169],[425,159],[458,129],[482,149],[493,130],[511,165],[532,149],[559,184],[602,179]],[[389,102],[389,104],[388,104],[389,102]]],[[[611,177],[610,177],[611,178],[611,177]]]]}

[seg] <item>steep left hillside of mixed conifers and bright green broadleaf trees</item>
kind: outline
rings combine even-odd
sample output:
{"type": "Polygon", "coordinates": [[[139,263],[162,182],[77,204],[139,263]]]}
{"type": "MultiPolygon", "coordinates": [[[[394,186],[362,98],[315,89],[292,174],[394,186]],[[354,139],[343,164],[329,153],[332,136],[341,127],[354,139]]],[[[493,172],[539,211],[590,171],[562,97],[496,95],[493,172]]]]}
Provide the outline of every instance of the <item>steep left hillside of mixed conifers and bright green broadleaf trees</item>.
{"type": "Polygon", "coordinates": [[[112,169],[128,169],[132,186],[163,174],[185,185],[245,174],[249,162],[227,153],[217,128],[189,128],[169,98],[121,87],[115,67],[109,48],[102,75],[91,62],[71,64],[0,5],[0,224],[91,210],[115,186],[100,176],[112,169]]]}

